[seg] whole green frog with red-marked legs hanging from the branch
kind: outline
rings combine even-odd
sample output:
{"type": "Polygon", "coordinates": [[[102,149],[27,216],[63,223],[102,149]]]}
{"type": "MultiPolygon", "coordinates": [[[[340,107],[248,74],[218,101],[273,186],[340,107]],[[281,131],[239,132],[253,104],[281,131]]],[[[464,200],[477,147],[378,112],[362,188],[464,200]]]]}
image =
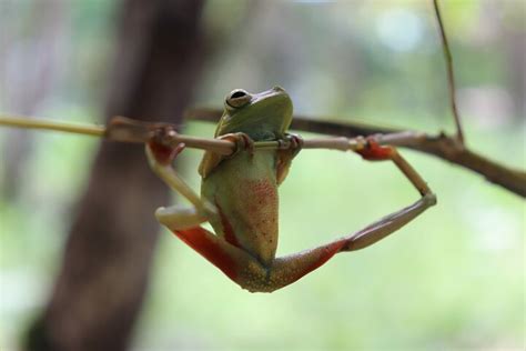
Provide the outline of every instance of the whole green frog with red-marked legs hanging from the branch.
{"type": "Polygon", "coordinates": [[[382,240],[436,203],[426,183],[396,149],[380,146],[375,137],[350,140],[366,160],[392,160],[422,198],[356,233],[276,258],[277,187],[303,144],[300,137],[286,132],[292,101],[279,87],[255,94],[237,89],[226,97],[224,106],[215,138],[233,141],[235,151],[231,156],[205,152],[200,166],[201,197],[171,166],[183,143],[171,146],[169,132],[163,134],[159,129],[146,143],[146,154],[153,171],[192,204],[160,208],[155,212],[158,220],[243,289],[272,292],[289,285],[338,252],[360,250],[382,240]],[[262,141],[289,147],[254,149],[254,143],[262,141]],[[206,221],[215,234],[200,227],[206,221]]]}

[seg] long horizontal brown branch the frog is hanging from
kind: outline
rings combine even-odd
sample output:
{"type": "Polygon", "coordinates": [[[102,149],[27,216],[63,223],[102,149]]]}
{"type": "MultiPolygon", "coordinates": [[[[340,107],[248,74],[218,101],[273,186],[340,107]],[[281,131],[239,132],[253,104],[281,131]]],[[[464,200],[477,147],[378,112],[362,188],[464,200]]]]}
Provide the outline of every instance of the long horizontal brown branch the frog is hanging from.
{"type": "MultiPolygon", "coordinates": [[[[196,121],[216,122],[222,111],[214,109],[193,109],[185,113],[185,118],[196,121]]],[[[81,134],[104,137],[108,140],[120,142],[148,142],[155,136],[155,132],[164,129],[173,131],[170,136],[172,144],[185,143],[188,147],[203,150],[211,150],[221,154],[230,154],[234,150],[234,143],[218,139],[196,138],[182,136],[175,132],[178,126],[159,122],[141,122],[123,117],[113,118],[109,126],[92,126],[53,121],[38,121],[26,118],[12,118],[0,116],[0,124],[17,128],[37,128],[68,131],[81,134]]],[[[334,122],[313,120],[311,118],[295,116],[291,128],[293,130],[315,132],[343,138],[325,138],[305,141],[305,149],[337,149],[337,150],[360,150],[362,141],[346,138],[357,138],[377,134],[377,140],[382,144],[394,144],[397,147],[417,150],[427,154],[433,154],[443,160],[458,164],[484,176],[493,183],[499,184],[509,191],[526,198],[526,173],[520,170],[507,168],[498,164],[483,156],[479,156],[458,142],[454,137],[439,133],[428,136],[418,131],[407,131],[391,127],[377,127],[366,123],[334,122]]],[[[277,142],[260,142],[257,148],[287,148],[286,144],[277,142]]]]}

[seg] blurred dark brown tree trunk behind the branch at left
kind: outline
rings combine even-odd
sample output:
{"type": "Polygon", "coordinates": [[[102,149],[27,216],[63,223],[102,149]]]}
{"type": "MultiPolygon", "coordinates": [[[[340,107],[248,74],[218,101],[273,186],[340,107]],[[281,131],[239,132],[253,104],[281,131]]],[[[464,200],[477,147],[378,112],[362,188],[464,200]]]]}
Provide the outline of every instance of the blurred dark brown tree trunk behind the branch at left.
{"type": "MultiPolygon", "coordinates": [[[[178,122],[202,63],[202,1],[127,0],[107,116],[178,122]]],[[[140,146],[103,143],[30,350],[125,350],[148,284],[168,188],[140,146]]]]}

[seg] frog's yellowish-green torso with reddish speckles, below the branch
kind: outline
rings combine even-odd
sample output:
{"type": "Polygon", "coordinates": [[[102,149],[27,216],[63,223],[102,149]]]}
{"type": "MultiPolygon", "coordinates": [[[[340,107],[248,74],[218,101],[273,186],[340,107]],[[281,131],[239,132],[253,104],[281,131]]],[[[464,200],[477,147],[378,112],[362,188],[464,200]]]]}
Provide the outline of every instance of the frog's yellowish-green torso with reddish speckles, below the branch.
{"type": "Polygon", "coordinates": [[[218,207],[218,235],[270,263],[277,247],[275,152],[242,151],[203,179],[201,194],[218,207]]]}

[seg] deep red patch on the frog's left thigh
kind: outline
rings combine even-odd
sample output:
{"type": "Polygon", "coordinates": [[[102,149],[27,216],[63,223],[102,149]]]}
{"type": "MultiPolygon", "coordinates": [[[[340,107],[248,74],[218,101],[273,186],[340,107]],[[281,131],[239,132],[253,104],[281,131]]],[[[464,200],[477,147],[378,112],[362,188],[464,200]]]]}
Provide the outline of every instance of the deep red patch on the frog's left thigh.
{"type": "Polygon", "coordinates": [[[209,234],[212,235],[212,233],[201,227],[174,230],[173,232],[179,239],[184,241],[189,247],[198,251],[212,264],[222,270],[230,279],[235,281],[237,277],[236,262],[209,237],[209,234]]]}

